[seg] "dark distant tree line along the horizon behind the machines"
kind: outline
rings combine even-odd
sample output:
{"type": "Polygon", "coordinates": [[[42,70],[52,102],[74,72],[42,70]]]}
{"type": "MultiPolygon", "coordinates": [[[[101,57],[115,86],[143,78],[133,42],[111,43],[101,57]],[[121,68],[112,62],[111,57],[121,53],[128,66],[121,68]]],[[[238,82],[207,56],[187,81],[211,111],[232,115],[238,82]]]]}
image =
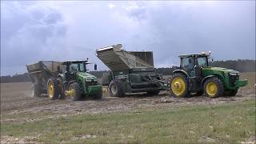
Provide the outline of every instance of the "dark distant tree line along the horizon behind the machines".
{"type": "MultiPolygon", "coordinates": [[[[240,72],[255,72],[256,71],[256,61],[255,60],[228,60],[228,61],[214,61],[210,62],[210,66],[216,66],[216,67],[224,67],[231,70],[238,70],[240,72]]],[[[173,70],[175,70],[176,67],[162,67],[162,68],[156,68],[156,72],[162,75],[171,75],[173,70]]],[[[97,78],[102,78],[102,74],[107,72],[106,70],[102,71],[90,71],[90,74],[95,75],[97,78]]],[[[13,76],[7,75],[7,76],[1,76],[1,83],[7,83],[7,82],[30,82],[31,78],[28,73],[25,74],[14,74],[13,76]]]]}

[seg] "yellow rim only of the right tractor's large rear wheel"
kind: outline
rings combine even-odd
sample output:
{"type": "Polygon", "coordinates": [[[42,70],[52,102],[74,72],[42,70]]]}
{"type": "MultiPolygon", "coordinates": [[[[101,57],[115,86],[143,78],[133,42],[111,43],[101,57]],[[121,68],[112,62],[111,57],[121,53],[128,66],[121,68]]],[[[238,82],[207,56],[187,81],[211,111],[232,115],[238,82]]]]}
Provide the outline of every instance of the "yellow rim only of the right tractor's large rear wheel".
{"type": "Polygon", "coordinates": [[[170,89],[176,96],[181,96],[186,90],[184,80],[182,78],[174,78],[170,84],[170,89]]]}

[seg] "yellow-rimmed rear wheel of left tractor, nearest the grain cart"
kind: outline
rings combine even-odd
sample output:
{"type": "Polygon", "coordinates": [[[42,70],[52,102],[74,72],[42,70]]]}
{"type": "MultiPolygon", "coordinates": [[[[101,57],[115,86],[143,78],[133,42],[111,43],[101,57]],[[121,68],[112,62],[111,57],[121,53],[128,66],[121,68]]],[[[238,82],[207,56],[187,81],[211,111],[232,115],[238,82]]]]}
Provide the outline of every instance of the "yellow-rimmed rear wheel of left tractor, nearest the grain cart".
{"type": "Polygon", "coordinates": [[[49,78],[47,82],[47,94],[50,99],[58,99],[59,87],[57,78],[49,78]]]}

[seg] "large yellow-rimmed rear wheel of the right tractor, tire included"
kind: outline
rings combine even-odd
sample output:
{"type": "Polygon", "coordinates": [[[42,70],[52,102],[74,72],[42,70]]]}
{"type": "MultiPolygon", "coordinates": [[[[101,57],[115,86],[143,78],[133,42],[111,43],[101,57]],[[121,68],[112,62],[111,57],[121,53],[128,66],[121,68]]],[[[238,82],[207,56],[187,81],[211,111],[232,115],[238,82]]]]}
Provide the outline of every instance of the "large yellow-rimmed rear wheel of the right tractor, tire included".
{"type": "Polygon", "coordinates": [[[184,74],[176,73],[172,75],[169,82],[170,94],[181,98],[189,95],[189,82],[184,74]]]}

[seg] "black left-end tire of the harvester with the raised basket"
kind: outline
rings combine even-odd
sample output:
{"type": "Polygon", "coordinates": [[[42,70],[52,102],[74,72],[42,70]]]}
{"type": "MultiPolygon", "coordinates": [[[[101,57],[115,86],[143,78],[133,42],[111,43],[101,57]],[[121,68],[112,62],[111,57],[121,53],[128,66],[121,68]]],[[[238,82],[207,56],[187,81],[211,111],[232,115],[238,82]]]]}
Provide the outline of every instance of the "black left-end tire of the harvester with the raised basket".
{"type": "Polygon", "coordinates": [[[114,79],[110,82],[109,93],[111,97],[124,97],[124,87],[122,81],[114,79]]]}

